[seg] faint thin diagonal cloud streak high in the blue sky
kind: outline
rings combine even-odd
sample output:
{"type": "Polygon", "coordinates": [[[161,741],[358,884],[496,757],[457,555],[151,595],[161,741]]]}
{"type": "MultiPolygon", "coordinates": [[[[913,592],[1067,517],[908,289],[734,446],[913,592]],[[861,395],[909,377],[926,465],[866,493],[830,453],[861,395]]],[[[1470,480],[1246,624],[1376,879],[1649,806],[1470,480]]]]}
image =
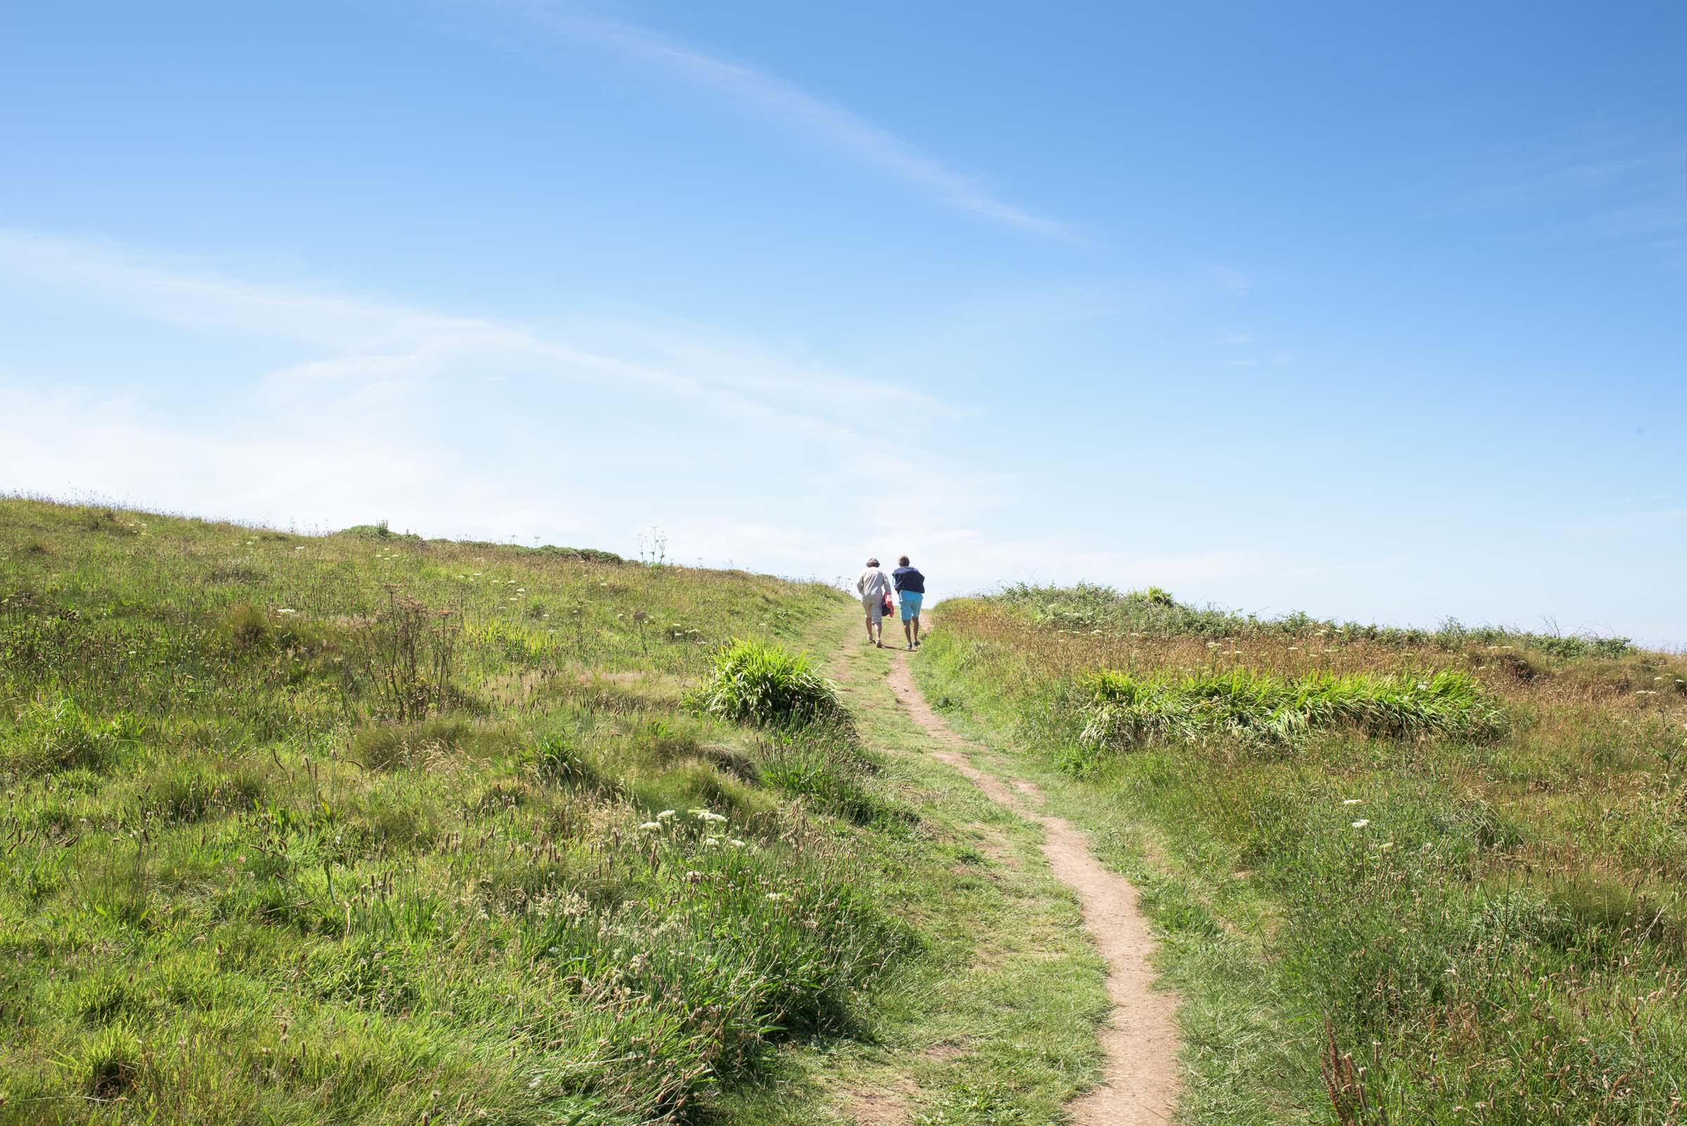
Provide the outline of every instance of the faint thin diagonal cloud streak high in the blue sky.
{"type": "Polygon", "coordinates": [[[891,130],[742,62],[730,62],[656,32],[572,7],[516,3],[535,27],[590,44],[675,81],[710,91],[742,113],[818,142],[859,164],[918,187],[951,207],[1063,243],[1081,243],[1068,223],[1011,204],[891,130]]]}

